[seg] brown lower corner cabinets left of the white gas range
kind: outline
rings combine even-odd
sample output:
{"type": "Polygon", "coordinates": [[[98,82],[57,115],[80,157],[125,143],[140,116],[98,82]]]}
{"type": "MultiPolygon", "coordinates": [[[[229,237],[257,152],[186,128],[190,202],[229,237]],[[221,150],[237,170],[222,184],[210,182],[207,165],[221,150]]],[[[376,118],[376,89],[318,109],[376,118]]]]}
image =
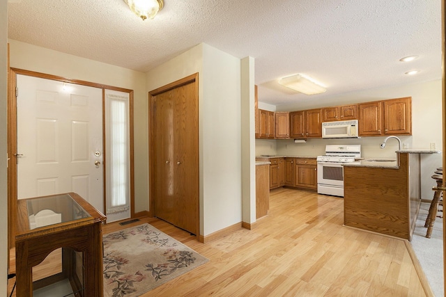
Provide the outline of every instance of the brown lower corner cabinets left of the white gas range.
{"type": "Polygon", "coordinates": [[[316,158],[270,158],[270,190],[281,186],[317,191],[316,158]]]}

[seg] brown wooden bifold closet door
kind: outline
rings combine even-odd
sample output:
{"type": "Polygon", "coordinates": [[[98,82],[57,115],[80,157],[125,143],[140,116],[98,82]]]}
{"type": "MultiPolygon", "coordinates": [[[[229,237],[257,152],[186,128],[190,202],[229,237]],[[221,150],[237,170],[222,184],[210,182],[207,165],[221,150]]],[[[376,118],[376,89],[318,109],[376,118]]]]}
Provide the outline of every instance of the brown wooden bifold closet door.
{"type": "Polygon", "coordinates": [[[198,83],[196,75],[153,90],[151,207],[157,218],[199,231],[198,83]]]}

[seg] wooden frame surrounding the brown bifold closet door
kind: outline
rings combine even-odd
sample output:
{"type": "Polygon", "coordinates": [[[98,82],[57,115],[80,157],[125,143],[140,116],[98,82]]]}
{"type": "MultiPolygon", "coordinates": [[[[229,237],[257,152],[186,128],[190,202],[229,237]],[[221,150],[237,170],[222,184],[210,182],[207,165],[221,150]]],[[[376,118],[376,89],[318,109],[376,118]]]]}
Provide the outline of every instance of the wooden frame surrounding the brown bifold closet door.
{"type": "MultiPolygon", "coordinates": [[[[187,77],[184,77],[183,79],[179,79],[178,81],[174,81],[173,83],[169,83],[165,86],[162,86],[160,88],[156,88],[155,90],[151,90],[150,92],[148,92],[148,101],[149,101],[149,110],[148,110],[148,116],[149,116],[149,120],[148,120],[148,133],[149,133],[149,155],[148,155],[148,163],[149,163],[149,170],[148,170],[148,180],[149,180],[149,206],[150,209],[148,211],[149,216],[154,217],[156,216],[156,209],[155,209],[155,199],[156,199],[156,195],[155,195],[155,189],[153,186],[153,184],[155,184],[155,174],[153,172],[155,172],[155,168],[153,167],[153,164],[155,162],[153,162],[153,160],[155,159],[155,141],[154,141],[154,134],[153,134],[153,97],[155,97],[156,95],[160,94],[160,93],[164,93],[167,92],[168,90],[172,90],[174,88],[179,88],[180,86],[184,86],[188,83],[195,83],[195,92],[196,92],[196,96],[197,96],[197,111],[199,113],[199,78],[198,78],[198,72],[191,74],[187,77]]],[[[199,164],[197,164],[197,166],[199,166],[199,164]]],[[[198,180],[198,185],[199,186],[199,180],[198,180]]],[[[197,214],[195,214],[195,216],[197,217],[197,240],[201,241],[203,240],[203,236],[201,236],[200,233],[200,215],[199,215],[199,197],[197,198],[197,214]]]]}

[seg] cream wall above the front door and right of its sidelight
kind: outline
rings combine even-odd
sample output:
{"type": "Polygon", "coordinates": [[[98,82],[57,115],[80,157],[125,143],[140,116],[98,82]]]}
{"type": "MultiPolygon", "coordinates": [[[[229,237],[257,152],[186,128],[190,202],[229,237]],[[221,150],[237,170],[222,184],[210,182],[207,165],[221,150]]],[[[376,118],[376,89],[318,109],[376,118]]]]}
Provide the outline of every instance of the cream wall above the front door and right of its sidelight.
{"type": "Polygon", "coordinates": [[[17,40],[8,41],[11,67],[134,90],[134,207],[136,212],[147,210],[148,105],[145,74],[17,40]]]}

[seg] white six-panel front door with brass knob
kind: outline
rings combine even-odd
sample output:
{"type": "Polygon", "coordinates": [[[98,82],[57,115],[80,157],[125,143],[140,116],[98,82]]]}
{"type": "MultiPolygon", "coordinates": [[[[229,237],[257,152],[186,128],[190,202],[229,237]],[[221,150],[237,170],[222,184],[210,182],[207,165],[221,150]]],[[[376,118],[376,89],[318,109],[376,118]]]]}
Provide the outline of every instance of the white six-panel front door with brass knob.
{"type": "Polygon", "coordinates": [[[103,211],[102,89],[17,75],[17,197],[75,192],[103,211]]]}

